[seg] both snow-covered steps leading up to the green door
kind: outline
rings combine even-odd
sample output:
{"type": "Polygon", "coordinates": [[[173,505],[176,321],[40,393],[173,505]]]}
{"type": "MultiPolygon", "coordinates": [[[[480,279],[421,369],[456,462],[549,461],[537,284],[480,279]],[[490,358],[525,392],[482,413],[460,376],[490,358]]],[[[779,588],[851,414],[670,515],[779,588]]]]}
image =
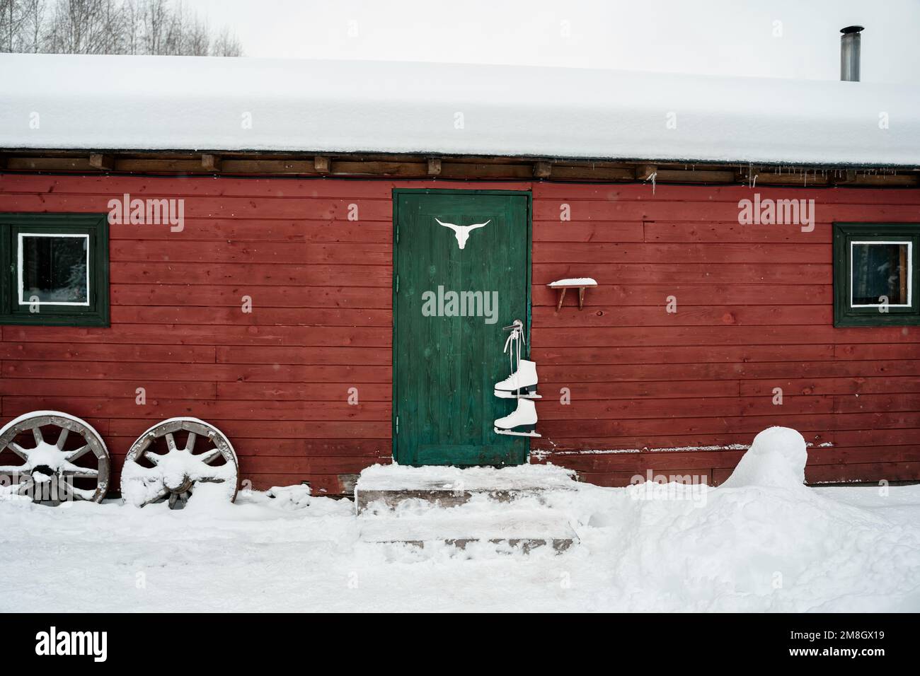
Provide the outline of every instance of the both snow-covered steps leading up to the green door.
{"type": "Polygon", "coordinates": [[[375,465],[358,479],[355,505],[363,542],[564,551],[578,535],[550,498],[577,487],[574,473],[553,465],[375,465]]]}

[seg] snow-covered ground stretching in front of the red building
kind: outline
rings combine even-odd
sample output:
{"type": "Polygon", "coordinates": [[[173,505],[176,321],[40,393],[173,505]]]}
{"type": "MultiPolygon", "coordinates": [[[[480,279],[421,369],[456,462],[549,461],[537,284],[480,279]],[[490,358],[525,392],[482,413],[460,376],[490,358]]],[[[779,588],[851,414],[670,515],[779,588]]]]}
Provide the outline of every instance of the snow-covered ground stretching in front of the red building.
{"type": "MultiPolygon", "coordinates": [[[[299,487],[177,511],[0,503],[0,611],[920,611],[920,486],[803,487],[777,448],[755,441],[705,492],[554,492],[581,539],[558,555],[362,542],[351,501],[299,487]]],[[[546,509],[528,499],[523,518],[546,509]]]]}

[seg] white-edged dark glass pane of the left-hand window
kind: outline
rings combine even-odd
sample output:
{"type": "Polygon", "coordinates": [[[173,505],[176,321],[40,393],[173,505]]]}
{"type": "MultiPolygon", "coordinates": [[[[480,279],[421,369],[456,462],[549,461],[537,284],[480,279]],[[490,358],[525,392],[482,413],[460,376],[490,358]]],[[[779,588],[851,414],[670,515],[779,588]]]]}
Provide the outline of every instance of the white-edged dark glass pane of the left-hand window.
{"type": "Polygon", "coordinates": [[[22,235],[20,303],[86,304],[89,238],[86,235],[22,235]]]}

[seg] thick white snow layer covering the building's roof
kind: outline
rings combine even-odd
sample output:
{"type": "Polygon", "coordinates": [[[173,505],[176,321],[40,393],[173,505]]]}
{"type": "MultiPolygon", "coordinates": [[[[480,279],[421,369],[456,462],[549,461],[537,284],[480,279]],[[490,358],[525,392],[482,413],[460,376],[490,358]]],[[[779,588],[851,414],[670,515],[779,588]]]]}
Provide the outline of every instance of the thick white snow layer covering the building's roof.
{"type": "Polygon", "coordinates": [[[3,54],[0,147],[914,166],[920,89],[445,63],[3,54]]]}

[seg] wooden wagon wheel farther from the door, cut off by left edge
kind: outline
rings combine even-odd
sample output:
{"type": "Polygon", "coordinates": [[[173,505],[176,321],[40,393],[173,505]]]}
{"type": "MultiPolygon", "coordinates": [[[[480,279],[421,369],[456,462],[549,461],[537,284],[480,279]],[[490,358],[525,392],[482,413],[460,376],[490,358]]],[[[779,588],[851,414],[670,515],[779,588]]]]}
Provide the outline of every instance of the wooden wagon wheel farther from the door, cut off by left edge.
{"type": "Polygon", "coordinates": [[[109,488],[109,450],[85,420],[59,411],[34,411],[0,429],[0,454],[21,464],[0,465],[9,491],[35,502],[100,502],[109,488]]]}

